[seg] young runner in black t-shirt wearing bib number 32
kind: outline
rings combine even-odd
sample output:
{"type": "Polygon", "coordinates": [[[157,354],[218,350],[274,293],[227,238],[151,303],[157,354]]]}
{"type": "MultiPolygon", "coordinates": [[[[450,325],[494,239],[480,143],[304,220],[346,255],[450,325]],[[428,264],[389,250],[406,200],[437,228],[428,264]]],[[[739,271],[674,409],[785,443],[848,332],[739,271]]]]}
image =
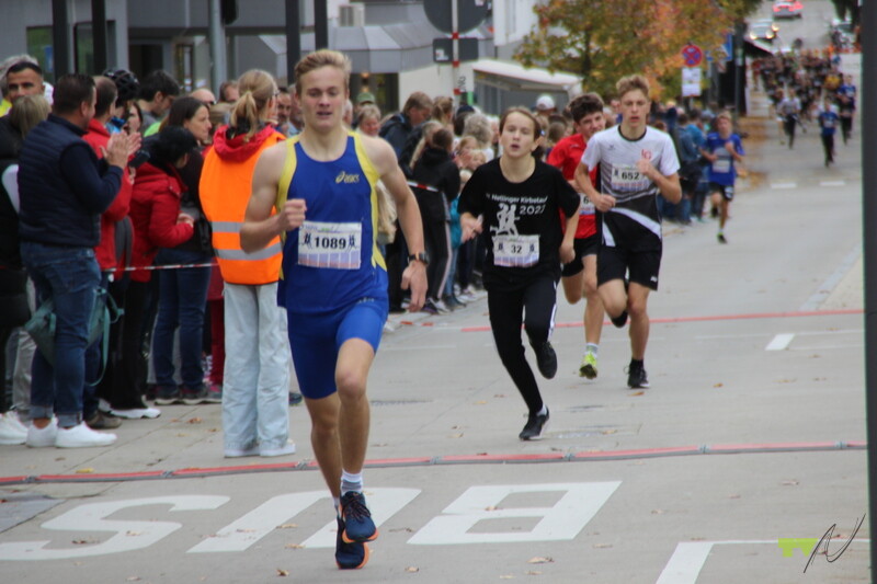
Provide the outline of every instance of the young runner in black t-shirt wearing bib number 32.
{"type": "Polygon", "coordinates": [[[549,414],[524,358],[521,324],[539,371],[553,378],[557,355],[548,337],[554,329],[560,263],[574,256],[580,204],[560,171],[533,156],[540,140],[539,123],[527,110],[508,110],[500,119],[502,156],[472,173],[459,201],[463,241],[476,233],[486,238],[483,282],[493,340],[529,410],[519,435],[522,440],[538,438],[549,414]],[[568,217],[566,231],[558,210],[568,217]]]}

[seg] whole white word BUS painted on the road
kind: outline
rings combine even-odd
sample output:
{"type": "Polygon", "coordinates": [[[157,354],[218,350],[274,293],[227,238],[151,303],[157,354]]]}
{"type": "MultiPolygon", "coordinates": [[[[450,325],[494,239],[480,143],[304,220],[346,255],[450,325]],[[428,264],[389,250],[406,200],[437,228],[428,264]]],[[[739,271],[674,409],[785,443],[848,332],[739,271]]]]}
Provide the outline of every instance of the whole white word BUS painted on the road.
{"type": "MultiPolygon", "coordinates": [[[[446,546],[572,540],[620,484],[620,481],[611,481],[470,486],[444,509],[446,515],[432,518],[408,543],[446,546]],[[506,496],[519,493],[560,493],[561,496],[547,507],[500,506],[506,496]],[[479,522],[509,517],[540,517],[540,520],[529,531],[467,533],[479,522]]],[[[378,488],[368,489],[367,493],[375,523],[381,525],[411,503],[421,491],[378,488]]],[[[170,505],[171,512],[213,511],[229,500],[221,495],[169,495],[78,505],[47,520],[42,527],[73,533],[112,533],[106,541],[89,545],[83,539],[77,542],[76,548],[48,548],[53,545],[52,540],[11,541],[0,543],[0,560],[66,560],[148,548],[180,529],[182,525],[155,519],[106,517],[122,509],[148,505],[170,505]],[[133,537],[135,535],[137,537],[133,537]]],[[[329,494],[326,491],[277,495],[219,529],[213,537],[200,541],[187,553],[244,551],[315,503],[329,504],[328,501],[329,494]]],[[[305,548],[332,548],[335,543],[335,522],[332,520],[301,545],[305,548]]],[[[66,539],[69,540],[69,536],[66,539]]]]}

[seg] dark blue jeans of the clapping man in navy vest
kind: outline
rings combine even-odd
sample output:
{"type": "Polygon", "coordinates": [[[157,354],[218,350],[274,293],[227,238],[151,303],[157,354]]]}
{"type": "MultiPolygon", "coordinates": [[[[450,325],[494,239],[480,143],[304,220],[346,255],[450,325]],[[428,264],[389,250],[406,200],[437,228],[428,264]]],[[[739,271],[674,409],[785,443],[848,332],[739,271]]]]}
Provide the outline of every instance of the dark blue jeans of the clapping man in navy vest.
{"type": "Polygon", "coordinates": [[[61,427],[82,421],[86,346],[101,273],[91,248],[62,248],[24,241],[21,255],[36,287],[37,305],[55,302],[55,366],[34,355],[31,416],[58,415],[61,427]]]}

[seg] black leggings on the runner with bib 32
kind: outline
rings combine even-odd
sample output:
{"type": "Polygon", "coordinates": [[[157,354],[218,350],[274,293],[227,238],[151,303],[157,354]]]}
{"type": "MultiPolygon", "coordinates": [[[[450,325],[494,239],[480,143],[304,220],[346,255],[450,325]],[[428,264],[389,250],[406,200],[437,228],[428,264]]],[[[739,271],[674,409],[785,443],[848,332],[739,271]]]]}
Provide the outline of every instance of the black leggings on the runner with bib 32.
{"type": "Polygon", "coordinates": [[[557,279],[549,275],[538,276],[513,290],[498,290],[490,286],[487,293],[490,328],[500,360],[532,414],[542,410],[543,401],[536,376],[524,358],[521,324],[524,324],[531,345],[539,346],[547,342],[555,324],[556,301],[557,279]]]}

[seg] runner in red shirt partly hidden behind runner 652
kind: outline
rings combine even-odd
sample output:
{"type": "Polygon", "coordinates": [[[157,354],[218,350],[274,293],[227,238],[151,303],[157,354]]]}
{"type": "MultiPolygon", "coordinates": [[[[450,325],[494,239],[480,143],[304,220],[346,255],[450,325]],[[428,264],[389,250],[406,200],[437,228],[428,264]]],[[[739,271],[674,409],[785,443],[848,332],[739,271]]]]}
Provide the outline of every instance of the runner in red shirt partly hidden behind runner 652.
{"type": "MultiPolygon", "coordinates": [[[[606,125],[603,116],[603,100],[595,93],[585,93],[572,100],[569,104],[572,114],[573,129],[576,133],[557,142],[548,154],[548,163],[557,167],[563,173],[573,188],[576,185],[576,168],[579,165],[591,136],[602,130],[606,125]]],[[[591,182],[595,184],[596,171],[591,170],[591,182]]],[[[582,297],[585,298],[584,307],[584,356],[579,366],[579,375],[593,379],[596,377],[597,345],[600,333],[603,330],[603,302],[596,293],[596,253],[600,249],[596,215],[594,205],[586,196],[580,193],[582,204],[579,207],[579,227],[576,230],[576,257],[565,264],[561,272],[563,294],[567,301],[574,305],[582,297]]],[[[562,222],[561,222],[562,225],[562,222]]]]}

